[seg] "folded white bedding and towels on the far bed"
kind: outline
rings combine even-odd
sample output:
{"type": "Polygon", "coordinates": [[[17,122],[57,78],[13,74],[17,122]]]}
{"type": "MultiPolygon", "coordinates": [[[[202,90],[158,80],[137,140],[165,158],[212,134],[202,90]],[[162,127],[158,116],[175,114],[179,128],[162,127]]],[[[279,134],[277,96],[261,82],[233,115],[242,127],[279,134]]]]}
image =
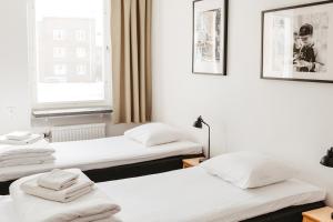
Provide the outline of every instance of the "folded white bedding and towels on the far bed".
{"type": "Polygon", "coordinates": [[[0,137],[0,168],[54,161],[54,149],[39,134],[13,132],[0,137]]]}

